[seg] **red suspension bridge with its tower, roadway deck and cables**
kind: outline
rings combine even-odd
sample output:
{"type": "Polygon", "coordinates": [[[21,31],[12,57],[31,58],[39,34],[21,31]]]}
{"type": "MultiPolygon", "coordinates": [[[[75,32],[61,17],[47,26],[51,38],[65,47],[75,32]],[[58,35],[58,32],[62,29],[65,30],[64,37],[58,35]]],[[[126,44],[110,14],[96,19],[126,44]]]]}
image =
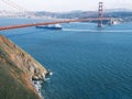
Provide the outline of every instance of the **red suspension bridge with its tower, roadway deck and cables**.
{"type": "MultiPolygon", "coordinates": [[[[10,8],[16,9],[19,11],[23,11],[23,13],[29,11],[29,10],[24,9],[23,7],[20,7],[16,3],[11,2],[9,0],[1,0],[1,2],[10,6],[10,8]]],[[[34,13],[32,13],[32,14],[34,14],[34,13]]],[[[112,20],[116,20],[116,19],[103,18],[103,2],[99,2],[98,16],[97,18],[70,19],[70,20],[62,20],[62,21],[53,21],[53,22],[38,22],[38,23],[29,23],[29,24],[8,25],[8,26],[0,26],[0,31],[11,30],[11,29],[29,28],[29,26],[37,26],[37,25],[48,25],[48,24],[56,24],[56,23],[91,22],[91,21],[98,21],[98,28],[101,28],[102,26],[102,21],[112,21],[112,20]]]]}

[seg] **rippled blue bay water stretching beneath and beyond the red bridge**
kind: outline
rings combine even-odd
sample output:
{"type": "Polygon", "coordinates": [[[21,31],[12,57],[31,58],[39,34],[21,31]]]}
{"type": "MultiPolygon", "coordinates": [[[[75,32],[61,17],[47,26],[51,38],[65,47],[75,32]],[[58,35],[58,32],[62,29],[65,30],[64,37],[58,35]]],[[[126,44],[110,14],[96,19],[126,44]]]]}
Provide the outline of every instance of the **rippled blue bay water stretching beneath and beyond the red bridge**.
{"type": "MultiPolygon", "coordinates": [[[[0,19],[0,25],[35,21],[0,19]]],[[[44,99],[132,99],[132,23],[63,28],[1,32],[53,72],[43,84],[44,99]]]]}

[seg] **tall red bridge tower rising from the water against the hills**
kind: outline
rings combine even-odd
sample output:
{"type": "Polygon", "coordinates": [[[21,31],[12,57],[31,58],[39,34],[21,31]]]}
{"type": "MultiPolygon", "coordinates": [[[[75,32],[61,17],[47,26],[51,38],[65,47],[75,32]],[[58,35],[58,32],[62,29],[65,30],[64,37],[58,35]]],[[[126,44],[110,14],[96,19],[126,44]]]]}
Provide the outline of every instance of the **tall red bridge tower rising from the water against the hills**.
{"type": "Polygon", "coordinates": [[[98,21],[98,28],[102,26],[102,11],[103,11],[103,2],[99,2],[99,8],[98,8],[98,16],[99,16],[99,21],[98,21]]]}

